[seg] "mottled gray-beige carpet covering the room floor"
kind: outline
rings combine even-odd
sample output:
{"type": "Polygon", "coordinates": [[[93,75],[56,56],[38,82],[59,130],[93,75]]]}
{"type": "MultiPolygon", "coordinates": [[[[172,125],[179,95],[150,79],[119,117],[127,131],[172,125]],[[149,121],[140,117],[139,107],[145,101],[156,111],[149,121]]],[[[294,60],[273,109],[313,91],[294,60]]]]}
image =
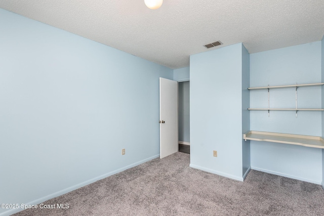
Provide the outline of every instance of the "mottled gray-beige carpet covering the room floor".
{"type": "Polygon", "coordinates": [[[175,153],[97,181],[19,215],[324,215],[319,185],[251,170],[245,182],[189,167],[175,153]]]}

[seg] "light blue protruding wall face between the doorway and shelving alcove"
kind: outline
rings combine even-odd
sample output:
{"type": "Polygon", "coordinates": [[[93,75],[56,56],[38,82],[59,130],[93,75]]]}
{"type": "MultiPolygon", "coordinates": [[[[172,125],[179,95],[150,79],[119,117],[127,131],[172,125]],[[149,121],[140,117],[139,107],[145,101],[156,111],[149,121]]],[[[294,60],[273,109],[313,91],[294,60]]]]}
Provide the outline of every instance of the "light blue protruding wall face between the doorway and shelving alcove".
{"type": "Polygon", "coordinates": [[[192,55],[190,166],[242,181],[242,160],[242,44],[192,55]]]}

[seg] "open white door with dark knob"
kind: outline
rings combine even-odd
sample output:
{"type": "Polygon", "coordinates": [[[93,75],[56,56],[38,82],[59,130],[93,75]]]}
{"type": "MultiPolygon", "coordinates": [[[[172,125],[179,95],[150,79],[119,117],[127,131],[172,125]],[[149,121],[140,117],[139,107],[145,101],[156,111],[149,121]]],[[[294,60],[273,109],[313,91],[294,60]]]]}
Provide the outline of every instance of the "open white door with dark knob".
{"type": "Polygon", "coordinates": [[[178,151],[178,83],[160,77],[160,158],[178,151]]]}

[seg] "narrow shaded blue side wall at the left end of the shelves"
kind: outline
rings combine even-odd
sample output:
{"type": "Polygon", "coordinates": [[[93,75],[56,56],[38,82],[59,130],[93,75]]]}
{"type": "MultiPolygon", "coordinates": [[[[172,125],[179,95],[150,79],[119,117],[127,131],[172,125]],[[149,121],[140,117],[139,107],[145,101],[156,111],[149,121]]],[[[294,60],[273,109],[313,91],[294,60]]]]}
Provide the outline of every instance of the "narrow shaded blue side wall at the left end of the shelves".
{"type": "MultiPolygon", "coordinates": [[[[242,134],[250,131],[250,54],[242,45],[242,134]]],[[[243,175],[251,169],[250,141],[242,140],[243,175]]]]}

